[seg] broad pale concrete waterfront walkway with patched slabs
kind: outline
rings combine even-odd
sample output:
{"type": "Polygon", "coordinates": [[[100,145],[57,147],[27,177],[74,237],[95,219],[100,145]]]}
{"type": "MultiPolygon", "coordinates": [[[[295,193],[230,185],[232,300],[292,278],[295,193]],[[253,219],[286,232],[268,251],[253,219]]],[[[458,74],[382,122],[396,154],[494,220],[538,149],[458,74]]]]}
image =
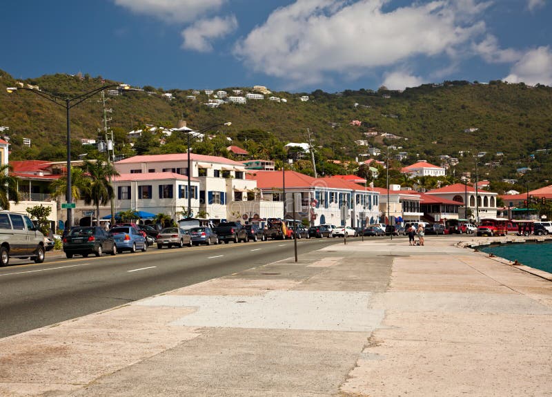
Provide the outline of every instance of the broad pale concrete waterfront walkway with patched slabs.
{"type": "Polygon", "coordinates": [[[337,244],[0,339],[0,396],[552,396],[552,282],[458,240],[337,244]]]}

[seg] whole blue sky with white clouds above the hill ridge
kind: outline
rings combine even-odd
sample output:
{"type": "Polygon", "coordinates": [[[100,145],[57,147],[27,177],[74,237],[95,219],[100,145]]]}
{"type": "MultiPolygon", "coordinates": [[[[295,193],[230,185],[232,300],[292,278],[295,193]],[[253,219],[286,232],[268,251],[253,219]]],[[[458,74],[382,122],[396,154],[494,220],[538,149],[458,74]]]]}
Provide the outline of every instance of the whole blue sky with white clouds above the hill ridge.
{"type": "Polygon", "coordinates": [[[552,86],[551,17],[549,0],[5,1],[0,68],[164,89],[552,86]]]}

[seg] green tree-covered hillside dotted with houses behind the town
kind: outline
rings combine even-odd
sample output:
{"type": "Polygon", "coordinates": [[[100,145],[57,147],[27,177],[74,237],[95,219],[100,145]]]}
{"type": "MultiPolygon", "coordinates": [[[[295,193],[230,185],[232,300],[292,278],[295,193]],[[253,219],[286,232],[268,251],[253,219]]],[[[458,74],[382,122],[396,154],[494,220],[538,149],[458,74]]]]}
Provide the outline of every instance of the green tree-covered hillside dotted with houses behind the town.
{"type": "MultiPolygon", "coordinates": [[[[41,90],[63,96],[79,95],[103,84],[117,84],[101,77],[44,75],[22,81],[38,85],[41,90]]],[[[65,158],[66,115],[61,106],[23,90],[8,94],[6,87],[16,84],[7,72],[0,70],[0,125],[10,127],[12,159],[65,158]],[[30,138],[30,148],[22,138],[30,138]]],[[[232,89],[226,90],[231,95],[232,89]]],[[[241,88],[250,92],[250,88],[241,88]]],[[[524,84],[490,84],[468,81],[445,81],[408,88],[404,92],[380,90],[346,90],[330,94],[322,90],[313,93],[279,92],[271,95],[287,102],[248,100],[247,104],[223,104],[208,108],[208,97],[201,91],[197,99],[187,99],[192,90],[163,90],[146,86],[142,92],[125,92],[109,97],[112,108],[110,127],[115,133],[119,151],[128,152],[126,133],[153,124],[174,127],[184,119],[190,128],[200,129],[212,124],[232,122],[224,133],[235,144],[260,144],[270,133],[278,142],[307,142],[311,131],[319,155],[331,159],[355,159],[366,153],[366,146],[355,141],[367,140],[369,146],[396,146],[393,153],[406,152],[403,164],[427,159],[440,164],[439,155],[458,157],[459,151],[487,152],[480,158],[482,175],[495,179],[515,177],[515,168],[529,166],[539,171],[533,180],[551,179],[552,155],[542,152],[530,160],[539,149],[551,148],[552,88],[529,87],[524,84]],[[150,92],[150,94],[148,94],[150,92]],[[152,93],[151,92],[155,92],[152,93]],[[161,96],[172,93],[172,100],[161,96]],[[308,95],[308,101],[299,97],[308,95]],[[362,122],[352,126],[352,120],[362,122]],[[465,132],[473,128],[473,132],[465,132]],[[477,130],[475,130],[477,128],[477,130]],[[377,131],[378,136],[366,135],[377,131]],[[397,139],[382,137],[396,135],[397,139]],[[248,142],[246,142],[248,139],[248,142]],[[498,154],[497,154],[498,153],[498,154]],[[502,154],[501,154],[502,153],[502,154]],[[485,164],[487,164],[485,166],[485,164]]],[[[79,139],[95,138],[102,128],[102,106],[99,96],[88,99],[71,110],[72,139],[75,157],[83,150],[79,139]]],[[[180,150],[182,146],[179,146],[180,150]]],[[[159,151],[159,148],[155,150],[159,151]]],[[[385,151],[385,149],[384,149],[385,151]]],[[[461,157],[455,172],[471,171],[472,155],[461,157]]]]}

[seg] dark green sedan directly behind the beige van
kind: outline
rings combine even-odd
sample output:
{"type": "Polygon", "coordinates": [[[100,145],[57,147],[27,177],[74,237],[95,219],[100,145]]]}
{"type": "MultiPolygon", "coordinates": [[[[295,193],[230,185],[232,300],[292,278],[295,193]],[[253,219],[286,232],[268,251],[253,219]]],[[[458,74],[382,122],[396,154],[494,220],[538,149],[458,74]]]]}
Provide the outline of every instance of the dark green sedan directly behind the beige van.
{"type": "Polygon", "coordinates": [[[91,253],[101,256],[103,252],[116,255],[119,246],[110,233],[100,226],[74,227],[63,238],[63,252],[67,258],[79,254],[87,258],[91,253]]]}

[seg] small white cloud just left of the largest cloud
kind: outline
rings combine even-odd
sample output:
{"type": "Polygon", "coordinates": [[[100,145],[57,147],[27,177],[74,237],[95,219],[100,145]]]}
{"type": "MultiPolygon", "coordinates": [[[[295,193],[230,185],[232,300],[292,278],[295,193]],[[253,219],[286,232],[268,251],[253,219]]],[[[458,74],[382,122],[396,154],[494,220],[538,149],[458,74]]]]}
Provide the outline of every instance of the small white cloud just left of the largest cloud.
{"type": "Polygon", "coordinates": [[[234,15],[226,18],[201,19],[192,26],[182,30],[181,35],[184,39],[182,48],[199,52],[210,52],[213,50],[210,41],[224,37],[236,29],[237,19],[234,15]]]}

